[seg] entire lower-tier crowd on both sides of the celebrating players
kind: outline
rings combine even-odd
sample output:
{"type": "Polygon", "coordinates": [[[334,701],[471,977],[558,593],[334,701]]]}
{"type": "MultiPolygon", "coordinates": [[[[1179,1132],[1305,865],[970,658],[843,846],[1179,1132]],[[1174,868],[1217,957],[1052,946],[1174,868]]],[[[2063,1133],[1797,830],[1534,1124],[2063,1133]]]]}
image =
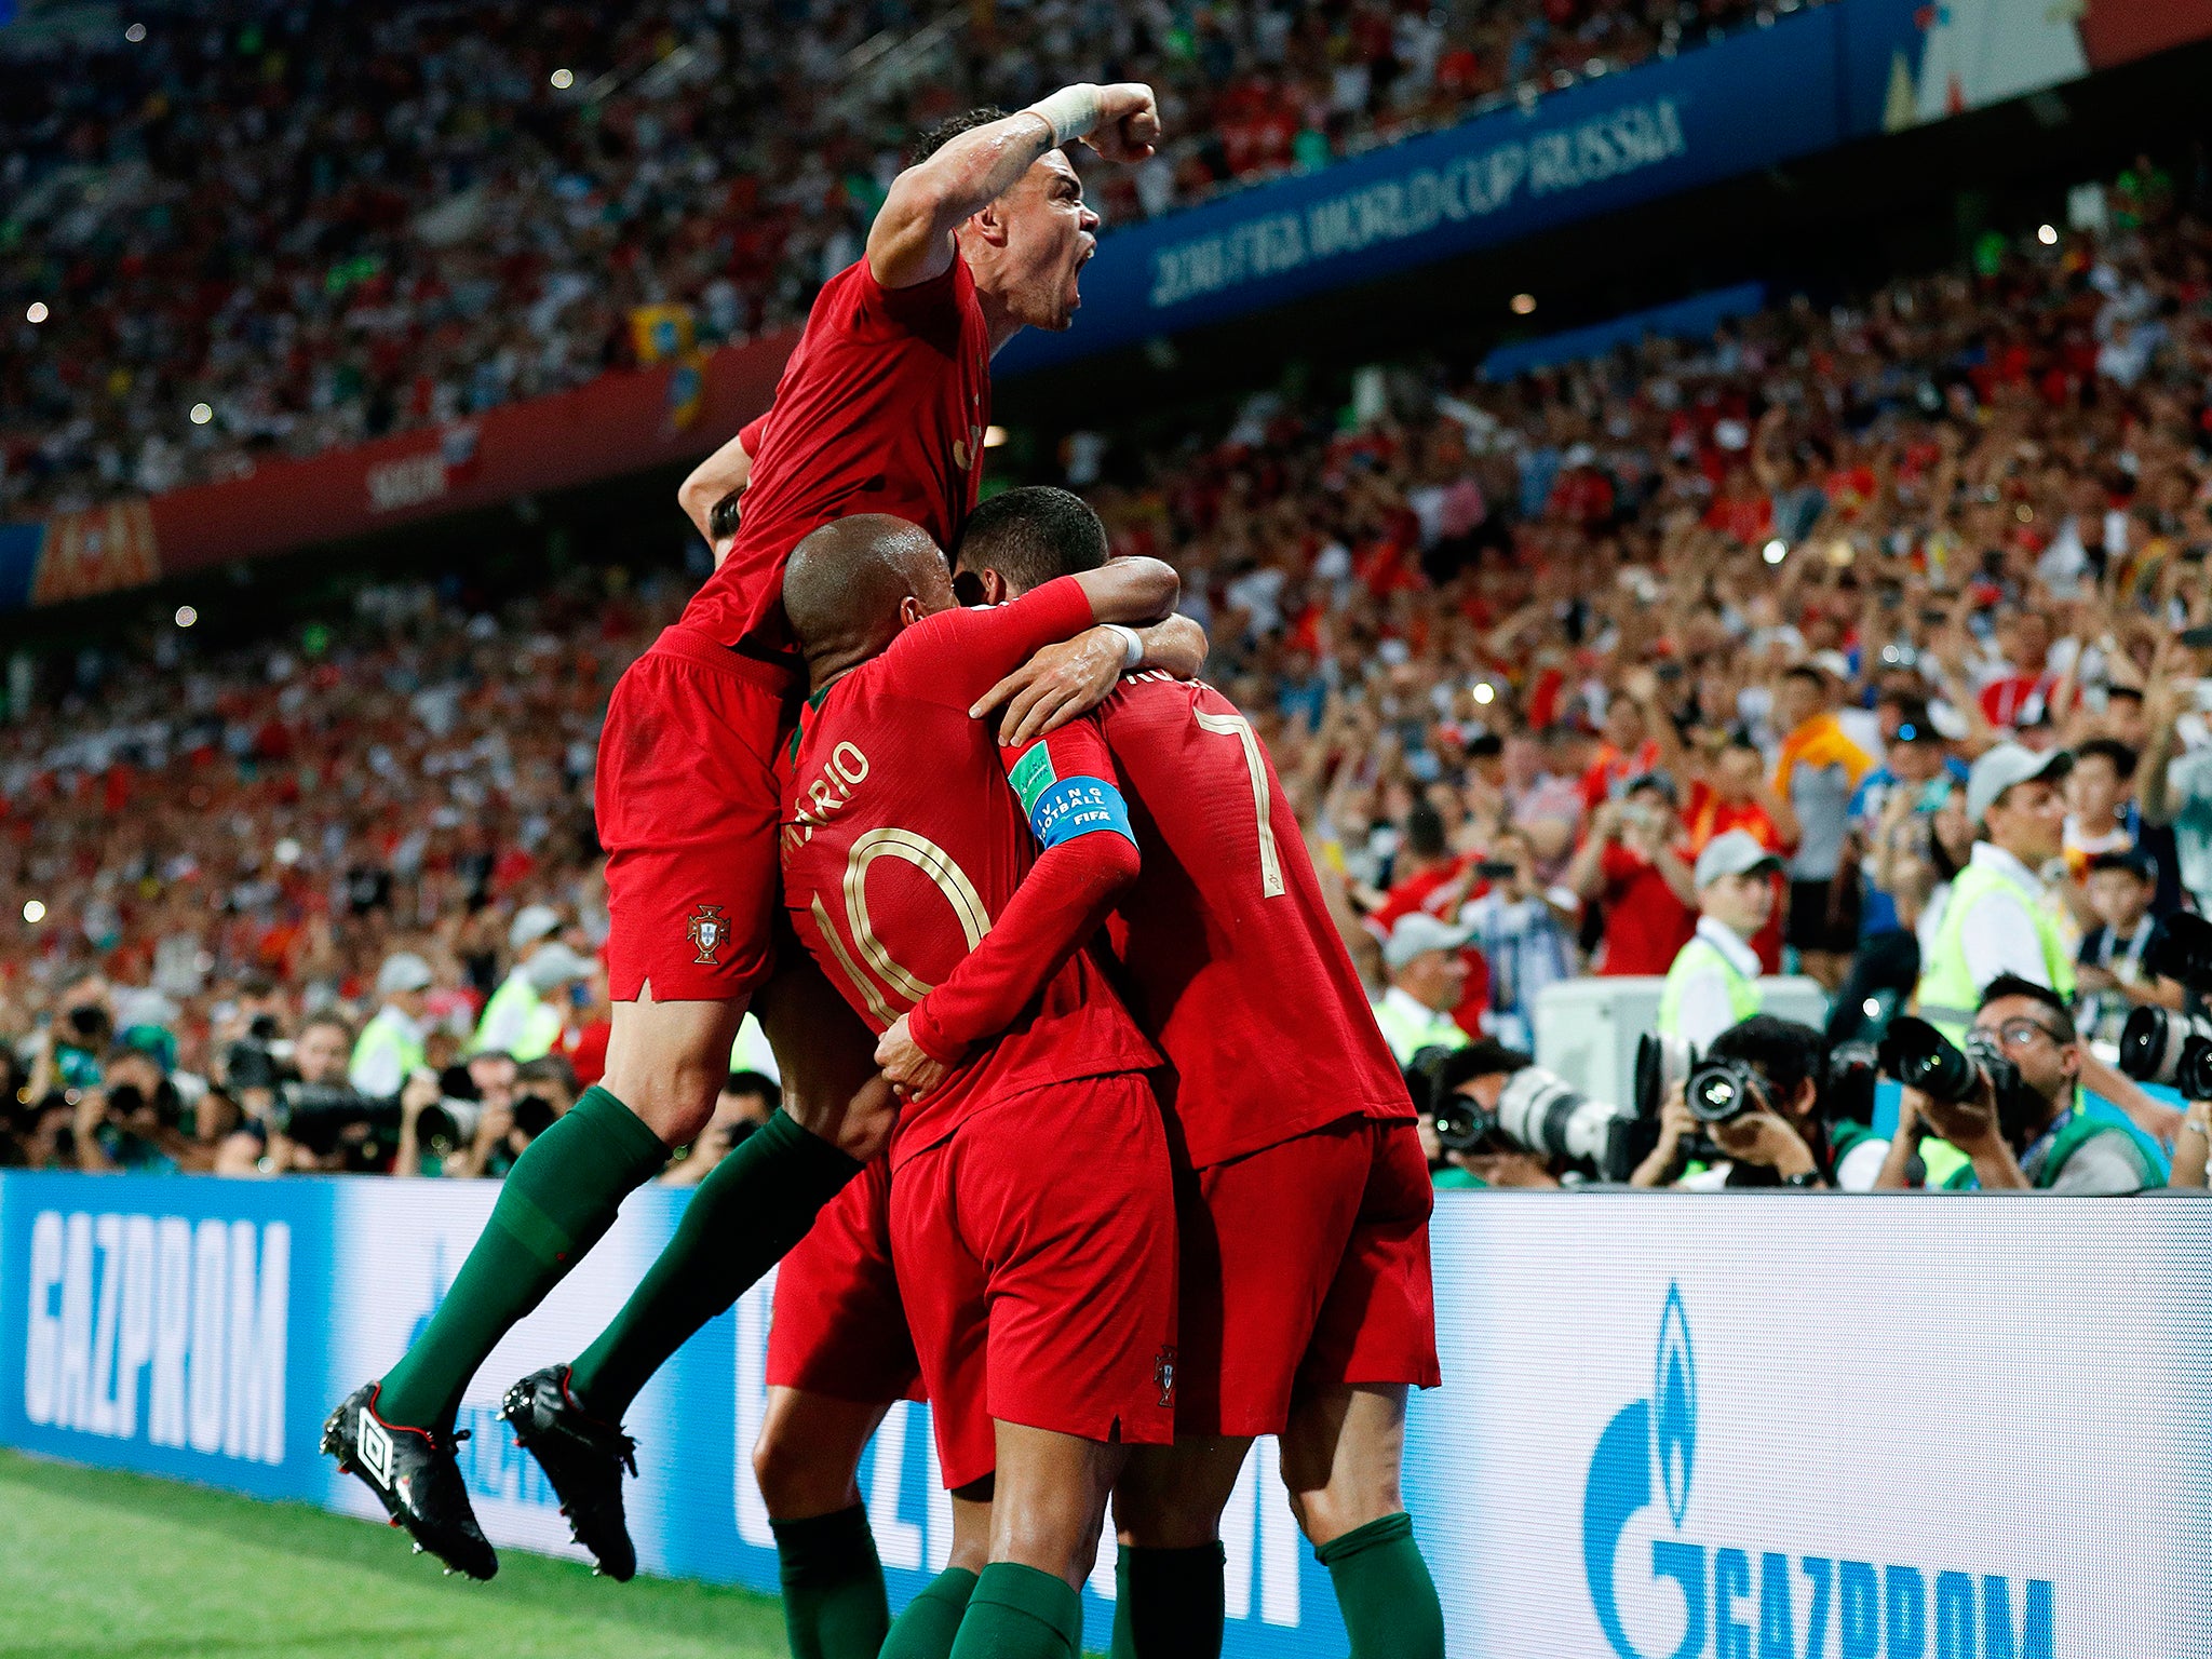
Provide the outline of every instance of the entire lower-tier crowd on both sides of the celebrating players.
{"type": "MultiPolygon", "coordinates": [[[[1858,1035],[2000,856],[2042,984],[2079,967],[2075,998],[2004,980],[1991,1031],[2077,1055],[2181,1006],[2141,958],[2212,907],[2212,230],[2148,164],[2106,208],[1708,341],[1066,442],[1117,551],[1181,566],[1402,1062],[1489,1044],[1504,1075],[1546,984],[1728,958],[1712,929],[1858,1035]]],[[[595,723],[679,599],[608,571],[476,615],[367,588],[307,648],[166,635],[4,732],[7,1157],[500,1172],[595,1075],[595,723]]],[[[772,1097],[734,1084],[717,1146],[772,1097]]],[[[2177,1179],[2203,1117],[2154,1119],[2177,1179]]],[[[1677,1179],[1677,1128],[1639,1177],[1677,1179]]]]}

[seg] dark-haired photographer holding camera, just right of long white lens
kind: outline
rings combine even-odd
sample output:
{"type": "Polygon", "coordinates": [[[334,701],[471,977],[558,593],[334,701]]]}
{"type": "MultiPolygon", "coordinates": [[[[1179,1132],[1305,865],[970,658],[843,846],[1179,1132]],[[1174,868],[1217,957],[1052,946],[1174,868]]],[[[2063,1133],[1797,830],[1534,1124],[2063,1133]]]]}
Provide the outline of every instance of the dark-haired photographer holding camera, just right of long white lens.
{"type": "Polygon", "coordinates": [[[1820,1110],[1827,1040],[1796,1020],[1754,1013],[1712,1040],[1690,1084],[1674,1084],[1659,1106],[1659,1144],[1628,1177],[1630,1186],[1719,1188],[1847,1188],[1874,1186],[1880,1152],[1845,1124],[1832,1139],[1820,1110]],[[1701,1119],[1688,1099],[1708,1068],[1728,1066],[1741,1110],[1725,1121],[1701,1119]],[[1721,1161],[1694,1155],[1701,1141],[1721,1161]]]}

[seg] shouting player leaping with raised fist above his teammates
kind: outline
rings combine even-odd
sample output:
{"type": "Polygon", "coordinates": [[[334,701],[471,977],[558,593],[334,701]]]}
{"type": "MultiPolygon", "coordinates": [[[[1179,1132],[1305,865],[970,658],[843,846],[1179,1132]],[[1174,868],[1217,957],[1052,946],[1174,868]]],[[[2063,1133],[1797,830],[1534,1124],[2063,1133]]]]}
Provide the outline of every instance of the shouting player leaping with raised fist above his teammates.
{"type": "MultiPolygon", "coordinates": [[[[630,1396],[728,1298],[686,1263],[757,1279],[889,1135],[867,1040],[803,960],[774,973],[772,763],[796,657],[781,608],[790,549],[854,511],[889,511],[951,544],[975,502],[989,358],[1024,325],[1071,323],[1097,217],[1060,146],[1141,159],[1159,133],[1144,86],[1068,86],[1009,117],[951,124],[894,184],[867,257],[834,276],[750,445],[690,495],[745,507],[684,619],[622,677],[599,743],[608,849],[606,1075],[507,1177],[493,1214],[416,1345],[332,1411],[323,1449],[449,1568],[491,1577],[453,1458],[453,1420],[493,1345],[613,1225],[622,1199],[712,1113],[748,1004],[785,1073],[785,1113],[701,1181],[677,1241],[573,1367],[524,1378],[507,1416],[546,1462],[571,1522],[617,1577],[619,1420],[630,1396]],[[582,1482],[582,1484],[580,1484],[582,1482]],[[575,1491],[571,1491],[575,1489],[575,1491]],[[611,1542],[597,1531],[613,1515],[611,1542]]],[[[927,146],[925,146],[927,148],[927,146]]],[[[1117,635],[1091,630],[1044,670],[1055,699],[1113,681],[1117,635]]]]}

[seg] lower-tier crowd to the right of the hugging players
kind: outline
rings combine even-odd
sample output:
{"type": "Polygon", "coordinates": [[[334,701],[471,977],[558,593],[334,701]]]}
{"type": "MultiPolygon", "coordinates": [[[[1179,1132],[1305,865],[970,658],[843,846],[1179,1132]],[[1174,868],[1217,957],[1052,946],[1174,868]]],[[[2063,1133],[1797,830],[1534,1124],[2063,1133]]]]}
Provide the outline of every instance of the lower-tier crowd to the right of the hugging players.
{"type": "MultiPolygon", "coordinates": [[[[2212,902],[2208,257],[2146,161],[2099,234],[1513,385],[1254,396],[1093,495],[1121,551],[1183,564],[1217,677],[1265,710],[1402,1062],[1489,1042],[1495,1106],[1566,975],[1668,975],[1661,1029],[1705,1048],[1790,967],[1836,1009],[1798,1077],[1918,993],[1949,1044],[2044,1044],[2051,1102],[2084,1075],[2141,1130],[1982,1170],[1916,1157],[1936,1119],[1966,1135],[1938,1106],[1849,1170],[1801,1124],[1792,1175],[2143,1186],[2203,1152],[2203,1110],[2112,1044],[2154,1006],[2183,1046],[2154,925],[2212,902]],[[1984,1018],[2004,975],[2064,1018],[1984,1018]]],[[[1068,456],[1113,476],[1104,438],[1068,456]]],[[[1688,1155],[1679,1104],[1661,1128],[1615,1179],[1745,1177],[1688,1155]]],[[[1604,1161],[1509,1141],[1447,1161],[1604,1161]]]]}

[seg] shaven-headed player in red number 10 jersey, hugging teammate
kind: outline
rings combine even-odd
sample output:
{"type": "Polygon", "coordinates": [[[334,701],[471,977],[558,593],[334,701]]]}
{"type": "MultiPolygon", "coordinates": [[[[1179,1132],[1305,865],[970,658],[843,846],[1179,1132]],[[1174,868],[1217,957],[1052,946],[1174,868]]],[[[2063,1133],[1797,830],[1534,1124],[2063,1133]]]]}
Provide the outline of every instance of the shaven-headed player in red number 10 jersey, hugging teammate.
{"type": "Polygon", "coordinates": [[[1026,745],[1055,783],[1024,821],[971,706],[1044,641],[1159,615],[1175,577],[1124,560],[960,611],[927,535],[860,515],[799,546],[783,597],[812,684],[783,902],[902,1079],[891,1261],[945,1484],[991,1509],[951,1655],[1075,1659],[1108,1489],[1175,1431],[1157,1055],[1084,949],[1139,860],[1088,723],[1026,745]]]}

